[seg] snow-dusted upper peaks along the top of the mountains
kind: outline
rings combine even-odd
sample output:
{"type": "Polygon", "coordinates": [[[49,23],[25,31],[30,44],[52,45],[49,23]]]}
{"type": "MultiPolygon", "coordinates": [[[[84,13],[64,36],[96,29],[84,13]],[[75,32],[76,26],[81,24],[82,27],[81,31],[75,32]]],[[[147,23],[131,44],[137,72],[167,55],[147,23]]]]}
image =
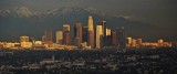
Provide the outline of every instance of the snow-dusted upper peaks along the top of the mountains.
{"type": "Polygon", "coordinates": [[[46,11],[33,11],[27,7],[20,7],[20,8],[14,8],[14,9],[2,9],[0,10],[0,17],[8,18],[8,17],[13,17],[13,18],[30,18],[30,17],[50,17],[50,15],[61,15],[61,14],[66,14],[66,13],[75,13],[75,14],[101,14],[104,15],[105,13],[97,11],[94,8],[75,8],[75,7],[62,7],[62,8],[56,8],[52,10],[46,10],[46,11]]]}

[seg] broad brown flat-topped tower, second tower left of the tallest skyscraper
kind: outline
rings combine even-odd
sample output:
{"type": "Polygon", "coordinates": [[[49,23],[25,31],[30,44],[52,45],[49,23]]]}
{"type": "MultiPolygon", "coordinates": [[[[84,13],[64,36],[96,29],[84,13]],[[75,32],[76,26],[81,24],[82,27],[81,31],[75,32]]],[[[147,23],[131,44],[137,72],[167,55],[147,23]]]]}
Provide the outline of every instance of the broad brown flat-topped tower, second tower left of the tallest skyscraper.
{"type": "Polygon", "coordinates": [[[74,44],[76,46],[80,46],[82,43],[82,24],[75,23],[74,25],[74,44]]]}

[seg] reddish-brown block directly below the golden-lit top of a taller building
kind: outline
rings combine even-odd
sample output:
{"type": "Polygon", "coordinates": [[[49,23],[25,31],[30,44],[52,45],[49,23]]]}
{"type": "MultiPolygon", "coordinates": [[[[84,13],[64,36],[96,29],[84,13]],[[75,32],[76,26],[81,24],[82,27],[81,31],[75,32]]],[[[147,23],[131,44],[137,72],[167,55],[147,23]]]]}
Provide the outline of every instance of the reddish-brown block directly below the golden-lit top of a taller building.
{"type": "Polygon", "coordinates": [[[72,39],[71,32],[70,31],[64,31],[63,32],[63,44],[71,45],[72,44],[71,39],[72,39]]]}

